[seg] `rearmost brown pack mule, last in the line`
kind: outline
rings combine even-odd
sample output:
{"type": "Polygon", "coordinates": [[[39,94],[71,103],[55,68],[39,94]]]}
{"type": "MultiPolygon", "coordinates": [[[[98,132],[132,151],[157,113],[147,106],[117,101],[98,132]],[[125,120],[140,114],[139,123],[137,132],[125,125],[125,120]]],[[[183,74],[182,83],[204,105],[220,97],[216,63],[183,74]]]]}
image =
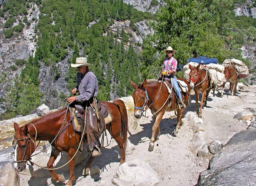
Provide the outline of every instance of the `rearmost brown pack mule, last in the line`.
{"type": "MultiPolygon", "coordinates": [[[[240,80],[240,77],[238,76],[238,73],[233,65],[228,65],[227,67],[225,67],[225,70],[223,73],[225,75],[227,82],[230,83],[229,93],[231,93],[231,95],[233,96],[236,93],[236,86],[240,80]]],[[[225,84],[226,83],[224,83],[222,86],[221,97],[223,96],[223,93],[224,93],[225,84]]]]}

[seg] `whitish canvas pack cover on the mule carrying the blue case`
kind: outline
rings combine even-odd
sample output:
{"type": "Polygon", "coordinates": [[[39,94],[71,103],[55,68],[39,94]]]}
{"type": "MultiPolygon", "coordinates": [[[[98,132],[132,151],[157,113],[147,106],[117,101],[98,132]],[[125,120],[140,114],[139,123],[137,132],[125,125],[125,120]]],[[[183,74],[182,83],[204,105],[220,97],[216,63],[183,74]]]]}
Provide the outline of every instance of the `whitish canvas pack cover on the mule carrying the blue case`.
{"type": "MultiPolygon", "coordinates": [[[[184,69],[184,79],[189,82],[189,73],[190,68],[189,65],[191,65],[193,68],[198,66],[198,63],[190,62],[187,65],[183,67],[184,69]]],[[[210,76],[211,84],[214,87],[220,87],[224,82],[226,82],[224,72],[224,67],[219,64],[208,64],[208,65],[201,65],[200,69],[205,69],[210,76]]]]}

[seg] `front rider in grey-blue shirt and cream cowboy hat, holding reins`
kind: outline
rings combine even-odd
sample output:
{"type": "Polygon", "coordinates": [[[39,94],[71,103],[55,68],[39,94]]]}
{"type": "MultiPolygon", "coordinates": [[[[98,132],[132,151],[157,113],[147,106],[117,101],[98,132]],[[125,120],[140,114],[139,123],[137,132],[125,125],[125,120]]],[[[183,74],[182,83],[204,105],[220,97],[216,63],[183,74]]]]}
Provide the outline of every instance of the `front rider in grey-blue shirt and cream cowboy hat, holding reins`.
{"type": "MultiPolygon", "coordinates": [[[[94,73],[89,70],[89,66],[92,65],[87,63],[86,58],[76,58],[76,63],[71,64],[71,67],[77,68],[78,71],[76,74],[77,86],[72,90],[72,94],[76,95],[76,93],[79,92],[79,95],[67,98],[67,102],[69,104],[73,103],[74,101],[84,102],[98,95],[98,80],[94,73]]],[[[99,155],[99,141],[97,141],[94,144],[92,156],[99,155]]]]}

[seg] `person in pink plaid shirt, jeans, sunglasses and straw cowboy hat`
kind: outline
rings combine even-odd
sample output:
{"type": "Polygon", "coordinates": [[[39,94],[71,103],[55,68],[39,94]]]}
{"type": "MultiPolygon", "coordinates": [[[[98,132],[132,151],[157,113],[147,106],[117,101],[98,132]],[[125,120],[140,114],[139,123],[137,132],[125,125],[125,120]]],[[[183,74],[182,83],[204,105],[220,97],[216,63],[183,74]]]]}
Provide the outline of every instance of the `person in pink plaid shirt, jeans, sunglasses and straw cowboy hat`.
{"type": "Polygon", "coordinates": [[[162,75],[167,76],[168,78],[172,79],[172,85],[175,88],[175,91],[179,97],[180,100],[180,108],[185,108],[186,105],[182,102],[181,93],[179,90],[178,82],[175,78],[175,73],[177,69],[177,60],[173,57],[176,50],[173,50],[172,47],[167,47],[167,49],[164,49],[164,53],[166,54],[167,58],[163,61],[163,67],[162,67],[162,75]]]}

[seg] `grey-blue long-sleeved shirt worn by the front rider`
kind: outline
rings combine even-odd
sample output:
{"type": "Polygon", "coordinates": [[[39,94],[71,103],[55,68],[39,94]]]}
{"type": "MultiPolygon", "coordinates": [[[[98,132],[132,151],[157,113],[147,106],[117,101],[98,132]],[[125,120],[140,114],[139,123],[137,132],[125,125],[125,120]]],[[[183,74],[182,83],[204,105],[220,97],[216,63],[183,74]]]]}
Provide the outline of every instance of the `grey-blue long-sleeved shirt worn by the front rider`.
{"type": "Polygon", "coordinates": [[[76,80],[76,90],[80,93],[80,95],[75,96],[77,101],[87,101],[98,95],[98,80],[93,72],[87,71],[85,74],[77,73],[76,80]]]}

